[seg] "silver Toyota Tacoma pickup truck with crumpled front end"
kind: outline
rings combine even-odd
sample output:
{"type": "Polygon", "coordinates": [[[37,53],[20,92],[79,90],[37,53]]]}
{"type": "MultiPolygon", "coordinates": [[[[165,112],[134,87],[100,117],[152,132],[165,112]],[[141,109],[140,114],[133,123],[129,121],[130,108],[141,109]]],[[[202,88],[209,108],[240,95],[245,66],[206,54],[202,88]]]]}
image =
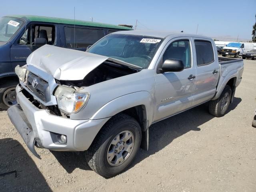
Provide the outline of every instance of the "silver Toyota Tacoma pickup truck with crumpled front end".
{"type": "Polygon", "coordinates": [[[218,58],[211,38],[183,33],[115,32],[86,52],[45,45],[16,67],[8,116],[38,158],[34,146],[86,151],[92,170],[111,177],[148,149],[153,123],[205,102],[223,116],[243,69],[218,58]]]}

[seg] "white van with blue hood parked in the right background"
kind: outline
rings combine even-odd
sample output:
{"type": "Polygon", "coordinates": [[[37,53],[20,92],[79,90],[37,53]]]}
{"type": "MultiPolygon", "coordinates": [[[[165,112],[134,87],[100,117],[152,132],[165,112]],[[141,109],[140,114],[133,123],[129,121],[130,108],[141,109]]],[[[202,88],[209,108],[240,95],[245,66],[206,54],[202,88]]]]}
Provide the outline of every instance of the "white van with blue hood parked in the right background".
{"type": "Polygon", "coordinates": [[[232,43],[227,44],[224,48],[222,48],[221,54],[224,57],[228,56],[228,55],[232,55],[232,56],[238,58],[244,52],[247,52],[252,49],[254,49],[254,45],[252,43],[232,42],[232,43]]]}

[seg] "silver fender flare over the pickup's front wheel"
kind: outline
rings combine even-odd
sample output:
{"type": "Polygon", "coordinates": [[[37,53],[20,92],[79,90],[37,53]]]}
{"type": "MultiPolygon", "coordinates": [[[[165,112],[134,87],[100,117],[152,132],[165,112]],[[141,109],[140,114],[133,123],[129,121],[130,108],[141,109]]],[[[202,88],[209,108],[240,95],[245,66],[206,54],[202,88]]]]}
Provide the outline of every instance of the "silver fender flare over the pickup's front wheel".
{"type": "Polygon", "coordinates": [[[151,94],[147,91],[134,92],[115,98],[102,106],[90,119],[96,120],[112,117],[119,112],[139,105],[145,106],[145,118],[149,127],[153,121],[153,105],[151,94]]]}

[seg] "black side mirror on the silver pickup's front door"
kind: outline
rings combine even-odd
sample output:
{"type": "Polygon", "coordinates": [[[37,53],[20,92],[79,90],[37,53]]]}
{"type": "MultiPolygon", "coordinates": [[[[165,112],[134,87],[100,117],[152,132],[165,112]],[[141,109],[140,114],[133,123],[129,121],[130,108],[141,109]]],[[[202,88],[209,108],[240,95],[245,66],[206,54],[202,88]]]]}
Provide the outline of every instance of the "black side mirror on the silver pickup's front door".
{"type": "Polygon", "coordinates": [[[182,60],[166,59],[162,65],[162,72],[179,72],[184,70],[182,60]]]}

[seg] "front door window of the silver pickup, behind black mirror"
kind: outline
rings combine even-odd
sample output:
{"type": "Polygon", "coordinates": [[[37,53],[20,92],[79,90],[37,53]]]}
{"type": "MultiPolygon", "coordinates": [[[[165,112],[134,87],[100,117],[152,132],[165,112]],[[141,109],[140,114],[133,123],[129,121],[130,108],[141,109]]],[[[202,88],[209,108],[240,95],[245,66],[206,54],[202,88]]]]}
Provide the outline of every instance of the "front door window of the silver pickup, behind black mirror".
{"type": "Polygon", "coordinates": [[[191,67],[191,51],[189,40],[179,40],[168,46],[163,55],[163,62],[166,59],[182,60],[185,68],[191,67]]]}

